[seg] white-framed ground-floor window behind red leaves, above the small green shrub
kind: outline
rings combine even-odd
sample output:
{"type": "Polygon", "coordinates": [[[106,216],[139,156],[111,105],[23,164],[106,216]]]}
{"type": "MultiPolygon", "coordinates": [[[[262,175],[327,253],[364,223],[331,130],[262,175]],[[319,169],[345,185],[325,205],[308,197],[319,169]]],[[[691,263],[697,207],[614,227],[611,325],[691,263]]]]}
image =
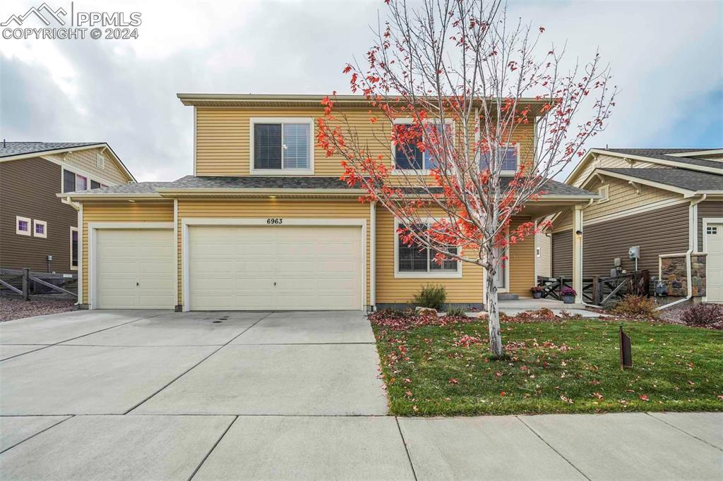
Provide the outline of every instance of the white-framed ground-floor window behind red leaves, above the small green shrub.
{"type": "MultiPolygon", "coordinates": [[[[425,220],[417,225],[418,230],[426,230],[435,222],[425,220]]],[[[435,261],[435,250],[424,246],[407,246],[403,243],[397,230],[403,227],[398,220],[394,221],[394,277],[450,278],[462,277],[462,263],[456,259],[445,259],[442,264],[435,261]]],[[[456,247],[450,247],[451,252],[456,247]]]]}

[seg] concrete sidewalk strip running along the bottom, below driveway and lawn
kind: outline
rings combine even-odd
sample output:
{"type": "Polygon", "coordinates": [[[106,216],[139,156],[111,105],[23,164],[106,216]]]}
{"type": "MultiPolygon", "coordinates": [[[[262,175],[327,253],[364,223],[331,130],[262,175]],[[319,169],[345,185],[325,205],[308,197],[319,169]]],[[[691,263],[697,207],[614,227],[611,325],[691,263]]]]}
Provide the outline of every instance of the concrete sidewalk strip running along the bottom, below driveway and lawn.
{"type": "Polygon", "coordinates": [[[0,417],[2,479],[720,480],[723,414],[0,417]]]}

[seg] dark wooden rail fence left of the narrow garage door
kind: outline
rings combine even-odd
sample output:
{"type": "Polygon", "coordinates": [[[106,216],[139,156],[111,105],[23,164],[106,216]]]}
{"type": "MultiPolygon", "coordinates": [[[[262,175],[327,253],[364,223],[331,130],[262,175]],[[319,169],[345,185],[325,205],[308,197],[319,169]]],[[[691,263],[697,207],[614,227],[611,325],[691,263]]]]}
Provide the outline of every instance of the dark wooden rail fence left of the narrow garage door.
{"type": "Polygon", "coordinates": [[[0,269],[0,292],[9,291],[25,300],[30,300],[31,295],[77,299],[77,282],[77,274],[31,272],[30,269],[0,269]]]}

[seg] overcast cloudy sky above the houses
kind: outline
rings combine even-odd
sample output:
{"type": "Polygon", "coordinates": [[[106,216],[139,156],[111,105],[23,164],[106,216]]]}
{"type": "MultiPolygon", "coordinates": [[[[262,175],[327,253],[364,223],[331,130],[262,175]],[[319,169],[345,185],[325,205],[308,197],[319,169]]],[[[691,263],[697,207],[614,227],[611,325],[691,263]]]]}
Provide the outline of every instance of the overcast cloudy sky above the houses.
{"type": "MultiPolygon", "coordinates": [[[[1,22],[42,1],[3,1],[1,22]]],[[[48,1],[70,11],[69,1],[48,1]]],[[[139,181],[192,173],[192,108],[177,92],[348,93],[375,1],[75,1],[141,12],[137,40],[0,39],[0,136],[108,142],[139,181]]],[[[586,147],[723,147],[723,1],[511,1],[513,16],[599,48],[622,92],[586,147]]],[[[42,26],[42,25],[33,25],[42,26]]],[[[1,29],[1,27],[0,27],[1,29]]]]}

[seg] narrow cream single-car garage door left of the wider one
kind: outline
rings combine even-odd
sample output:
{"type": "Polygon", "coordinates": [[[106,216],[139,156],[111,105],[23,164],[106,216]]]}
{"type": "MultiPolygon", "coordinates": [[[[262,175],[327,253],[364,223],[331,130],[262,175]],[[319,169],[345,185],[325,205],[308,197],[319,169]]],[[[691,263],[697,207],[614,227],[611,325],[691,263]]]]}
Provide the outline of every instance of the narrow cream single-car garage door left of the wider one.
{"type": "Polygon", "coordinates": [[[175,254],[173,229],[98,229],[93,307],[173,308],[175,254]]]}

